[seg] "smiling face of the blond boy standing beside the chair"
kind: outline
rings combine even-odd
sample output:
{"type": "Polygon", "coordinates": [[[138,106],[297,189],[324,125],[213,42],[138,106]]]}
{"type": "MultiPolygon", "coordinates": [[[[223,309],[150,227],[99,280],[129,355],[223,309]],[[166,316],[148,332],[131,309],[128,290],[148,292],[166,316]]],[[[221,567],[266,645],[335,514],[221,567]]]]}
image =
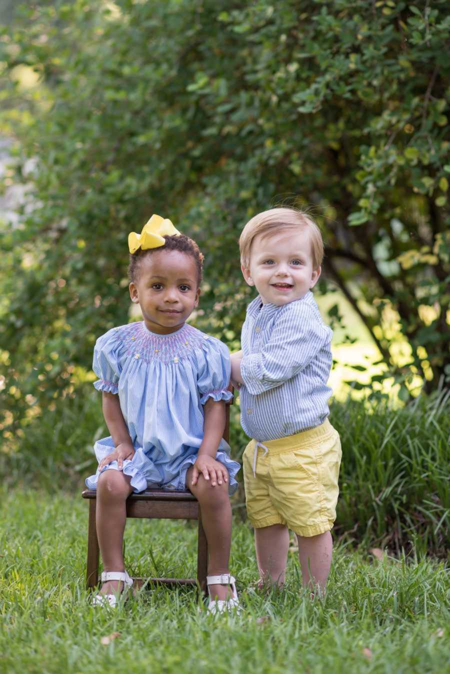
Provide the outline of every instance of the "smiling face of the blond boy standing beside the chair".
{"type": "Polygon", "coordinates": [[[257,235],[251,244],[250,266],[241,269],[263,304],[279,307],[304,297],[321,274],[320,267],[313,269],[307,228],[257,235]]]}

